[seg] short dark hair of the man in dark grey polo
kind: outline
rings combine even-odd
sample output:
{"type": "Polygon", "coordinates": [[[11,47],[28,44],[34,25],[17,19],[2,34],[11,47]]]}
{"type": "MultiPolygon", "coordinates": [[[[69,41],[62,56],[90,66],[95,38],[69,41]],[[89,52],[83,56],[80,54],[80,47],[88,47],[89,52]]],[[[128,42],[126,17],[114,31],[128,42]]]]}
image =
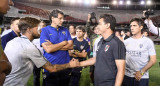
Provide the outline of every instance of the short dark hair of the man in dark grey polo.
{"type": "Polygon", "coordinates": [[[112,15],[109,14],[103,14],[100,16],[100,19],[103,18],[105,24],[106,23],[110,23],[110,28],[112,31],[115,30],[115,26],[116,26],[116,18],[112,15]]]}

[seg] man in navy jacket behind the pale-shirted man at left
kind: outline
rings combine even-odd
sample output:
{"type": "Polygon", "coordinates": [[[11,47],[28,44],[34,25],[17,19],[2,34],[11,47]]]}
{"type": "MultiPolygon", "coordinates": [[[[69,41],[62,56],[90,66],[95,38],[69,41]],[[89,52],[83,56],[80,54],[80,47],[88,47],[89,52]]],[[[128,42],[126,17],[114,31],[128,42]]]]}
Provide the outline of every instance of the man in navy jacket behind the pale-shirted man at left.
{"type": "Polygon", "coordinates": [[[12,31],[1,37],[3,50],[5,49],[7,42],[14,39],[15,37],[20,36],[20,30],[18,28],[19,19],[19,17],[13,18],[11,20],[12,31]]]}

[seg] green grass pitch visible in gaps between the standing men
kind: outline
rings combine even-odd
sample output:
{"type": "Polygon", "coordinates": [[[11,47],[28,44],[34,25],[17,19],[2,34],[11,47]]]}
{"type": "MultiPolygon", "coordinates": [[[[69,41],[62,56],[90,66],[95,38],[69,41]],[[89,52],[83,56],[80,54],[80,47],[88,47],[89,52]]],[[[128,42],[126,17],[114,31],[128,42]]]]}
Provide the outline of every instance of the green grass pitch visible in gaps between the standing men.
{"type": "MultiPolygon", "coordinates": [[[[149,70],[150,79],[149,86],[160,86],[160,45],[155,45],[157,53],[157,63],[149,70]]],[[[89,67],[84,68],[82,71],[79,86],[93,86],[90,84],[89,67]]],[[[30,77],[27,86],[33,86],[33,75],[30,77]]],[[[42,86],[42,75],[41,75],[41,86],[42,86]]]]}

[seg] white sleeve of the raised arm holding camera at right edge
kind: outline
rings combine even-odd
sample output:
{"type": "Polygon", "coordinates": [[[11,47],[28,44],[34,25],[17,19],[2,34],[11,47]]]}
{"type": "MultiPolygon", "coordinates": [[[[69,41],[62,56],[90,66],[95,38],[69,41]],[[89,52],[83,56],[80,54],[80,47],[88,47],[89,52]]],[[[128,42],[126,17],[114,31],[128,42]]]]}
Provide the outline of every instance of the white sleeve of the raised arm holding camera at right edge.
{"type": "MultiPolygon", "coordinates": [[[[146,20],[144,21],[144,23],[147,25],[147,27],[148,27],[148,29],[149,29],[149,31],[150,31],[151,33],[153,33],[153,34],[155,34],[155,35],[158,35],[158,29],[159,29],[159,31],[160,31],[160,28],[157,29],[157,27],[155,27],[155,25],[153,24],[152,20],[146,19],[146,20]]],[[[160,33],[160,32],[159,32],[159,33],[160,33]]],[[[159,34],[159,36],[160,36],[160,34],[159,34]]]]}

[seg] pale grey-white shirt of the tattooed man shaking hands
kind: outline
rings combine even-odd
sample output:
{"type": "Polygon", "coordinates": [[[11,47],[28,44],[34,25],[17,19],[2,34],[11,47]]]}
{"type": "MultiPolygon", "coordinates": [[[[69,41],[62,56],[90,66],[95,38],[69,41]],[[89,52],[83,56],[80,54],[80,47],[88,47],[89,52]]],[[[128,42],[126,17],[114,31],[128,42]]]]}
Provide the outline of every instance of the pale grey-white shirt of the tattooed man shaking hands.
{"type": "Polygon", "coordinates": [[[25,86],[33,72],[34,64],[39,68],[47,62],[25,36],[9,41],[4,52],[12,64],[12,71],[6,76],[4,86],[25,86]]]}

